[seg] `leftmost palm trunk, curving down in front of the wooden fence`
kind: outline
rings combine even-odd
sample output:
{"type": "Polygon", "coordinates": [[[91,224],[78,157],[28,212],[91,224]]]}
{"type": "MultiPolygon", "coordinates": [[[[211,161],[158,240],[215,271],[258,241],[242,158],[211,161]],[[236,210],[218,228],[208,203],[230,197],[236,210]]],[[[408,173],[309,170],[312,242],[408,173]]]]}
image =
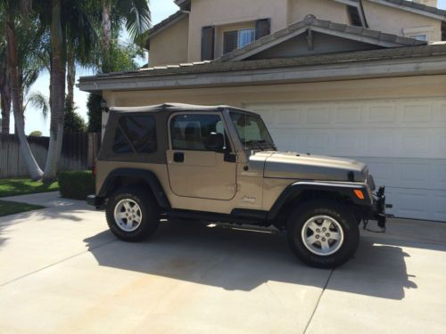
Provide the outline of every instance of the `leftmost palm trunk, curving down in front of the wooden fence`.
{"type": "Polygon", "coordinates": [[[21,1],[18,4],[14,0],[4,0],[4,26],[6,35],[6,52],[7,52],[7,64],[10,75],[11,83],[11,96],[12,96],[12,110],[14,115],[14,124],[16,134],[19,138],[19,147],[21,156],[24,159],[29,175],[31,179],[38,180],[42,177],[43,173],[40,167],[37,165],[36,159],[32,155],[29,143],[25,135],[25,126],[23,123],[23,113],[21,110],[21,84],[20,84],[20,72],[19,72],[19,52],[16,38],[16,31],[21,29],[27,29],[27,20],[18,20],[21,15],[21,11],[28,9],[26,1],[21,1]]]}

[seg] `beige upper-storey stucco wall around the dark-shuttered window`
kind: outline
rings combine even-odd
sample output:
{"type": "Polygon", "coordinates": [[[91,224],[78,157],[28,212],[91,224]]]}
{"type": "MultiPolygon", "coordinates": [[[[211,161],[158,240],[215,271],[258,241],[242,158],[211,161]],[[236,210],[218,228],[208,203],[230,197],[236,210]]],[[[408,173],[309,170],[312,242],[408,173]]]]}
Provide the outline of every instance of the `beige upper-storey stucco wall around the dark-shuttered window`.
{"type": "Polygon", "coordinates": [[[202,27],[271,19],[271,31],[287,25],[288,0],[194,0],[189,25],[189,61],[201,61],[202,27]]]}

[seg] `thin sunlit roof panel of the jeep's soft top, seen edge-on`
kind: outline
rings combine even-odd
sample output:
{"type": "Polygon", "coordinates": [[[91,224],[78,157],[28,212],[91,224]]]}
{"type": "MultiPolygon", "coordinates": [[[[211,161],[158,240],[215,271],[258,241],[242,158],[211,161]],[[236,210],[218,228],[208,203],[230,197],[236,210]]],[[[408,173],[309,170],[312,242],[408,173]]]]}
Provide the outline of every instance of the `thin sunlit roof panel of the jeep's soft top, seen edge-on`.
{"type": "Polygon", "coordinates": [[[243,110],[240,108],[230,107],[227,105],[218,106],[203,106],[185,103],[163,103],[142,107],[111,107],[110,111],[113,113],[127,113],[127,112],[160,112],[160,111],[223,111],[223,110],[237,110],[246,113],[257,115],[250,110],[243,110]]]}

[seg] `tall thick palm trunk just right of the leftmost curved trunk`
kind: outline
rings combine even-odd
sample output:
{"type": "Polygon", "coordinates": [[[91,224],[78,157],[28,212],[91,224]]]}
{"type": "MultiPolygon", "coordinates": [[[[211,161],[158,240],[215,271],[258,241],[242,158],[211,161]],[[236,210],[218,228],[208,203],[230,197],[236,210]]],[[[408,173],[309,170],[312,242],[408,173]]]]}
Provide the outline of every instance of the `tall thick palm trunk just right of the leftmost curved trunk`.
{"type": "Polygon", "coordinates": [[[51,123],[50,144],[46,156],[44,183],[54,181],[57,175],[57,163],[62,151],[63,118],[65,104],[65,57],[61,22],[61,1],[53,0],[51,21],[51,123]]]}

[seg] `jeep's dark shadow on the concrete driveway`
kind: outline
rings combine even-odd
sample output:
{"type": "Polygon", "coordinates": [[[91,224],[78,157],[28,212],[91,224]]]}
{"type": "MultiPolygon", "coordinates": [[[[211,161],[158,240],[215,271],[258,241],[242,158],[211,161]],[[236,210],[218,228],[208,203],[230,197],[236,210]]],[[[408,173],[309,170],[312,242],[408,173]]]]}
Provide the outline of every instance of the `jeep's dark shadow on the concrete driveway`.
{"type": "MultiPolygon", "coordinates": [[[[106,233],[84,240],[99,265],[227,290],[250,291],[268,281],[324,288],[331,273],[301,264],[280,232],[165,222],[146,242],[118,240],[95,248],[106,233]]],[[[326,289],[400,300],[404,289],[417,289],[405,257],[401,247],[362,238],[356,257],[335,270],[326,289]]]]}

